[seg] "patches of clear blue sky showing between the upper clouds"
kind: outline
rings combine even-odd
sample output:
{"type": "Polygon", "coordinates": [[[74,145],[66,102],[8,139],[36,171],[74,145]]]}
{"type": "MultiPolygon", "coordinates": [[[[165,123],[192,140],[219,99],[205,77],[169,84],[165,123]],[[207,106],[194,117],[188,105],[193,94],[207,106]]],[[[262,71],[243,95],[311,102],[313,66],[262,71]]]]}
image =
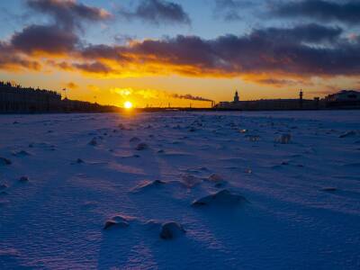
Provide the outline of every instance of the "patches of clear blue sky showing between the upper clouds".
{"type": "MultiPolygon", "coordinates": [[[[122,7],[128,8],[134,6],[135,3],[132,0],[84,0],[81,2],[115,12],[122,7]]],[[[184,0],[173,2],[183,6],[184,11],[189,14],[192,20],[191,25],[151,25],[151,29],[149,29],[148,25],[140,20],[127,22],[126,20],[117,18],[111,22],[103,23],[103,26],[93,25],[92,29],[90,29],[89,32],[86,32],[86,40],[96,43],[99,40],[99,34],[102,35],[102,41],[105,39],[107,42],[113,42],[113,37],[115,35],[136,36],[139,39],[143,39],[184,34],[199,35],[203,38],[211,39],[227,33],[240,34],[247,32],[250,28],[260,25],[262,21],[261,18],[257,18],[257,16],[261,14],[261,10],[254,10],[253,7],[246,8],[243,14],[241,14],[244,17],[244,20],[229,22],[221,18],[220,14],[216,13],[216,4],[212,0],[184,0]],[[106,30],[102,27],[106,27],[106,30]],[[94,35],[96,35],[96,37],[94,37],[94,35]]],[[[6,24],[6,27],[0,28],[2,38],[8,37],[14,31],[20,31],[24,24],[38,23],[40,20],[44,19],[39,16],[31,16],[25,1],[23,0],[3,1],[0,6],[3,10],[0,14],[1,21],[6,24]],[[14,15],[16,17],[14,17],[14,15]]]]}

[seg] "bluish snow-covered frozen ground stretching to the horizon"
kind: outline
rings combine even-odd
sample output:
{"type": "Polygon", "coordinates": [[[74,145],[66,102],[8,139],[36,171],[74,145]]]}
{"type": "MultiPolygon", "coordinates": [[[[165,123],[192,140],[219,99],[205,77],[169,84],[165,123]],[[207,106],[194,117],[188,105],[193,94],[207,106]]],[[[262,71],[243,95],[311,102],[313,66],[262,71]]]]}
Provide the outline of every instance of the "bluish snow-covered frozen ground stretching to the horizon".
{"type": "Polygon", "coordinates": [[[0,269],[359,269],[359,130],[359,111],[2,115],[0,269]]]}

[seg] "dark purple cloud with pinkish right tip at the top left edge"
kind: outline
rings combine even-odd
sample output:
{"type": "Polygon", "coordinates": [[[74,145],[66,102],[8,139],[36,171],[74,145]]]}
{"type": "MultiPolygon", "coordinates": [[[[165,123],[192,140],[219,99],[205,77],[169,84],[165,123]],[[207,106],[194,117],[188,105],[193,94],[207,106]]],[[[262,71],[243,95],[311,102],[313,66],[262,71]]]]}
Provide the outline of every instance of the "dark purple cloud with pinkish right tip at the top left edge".
{"type": "Polygon", "coordinates": [[[77,3],[76,0],[26,0],[28,6],[41,14],[49,14],[58,26],[73,29],[85,20],[99,22],[111,15],[101,8],[77,3]]]}

